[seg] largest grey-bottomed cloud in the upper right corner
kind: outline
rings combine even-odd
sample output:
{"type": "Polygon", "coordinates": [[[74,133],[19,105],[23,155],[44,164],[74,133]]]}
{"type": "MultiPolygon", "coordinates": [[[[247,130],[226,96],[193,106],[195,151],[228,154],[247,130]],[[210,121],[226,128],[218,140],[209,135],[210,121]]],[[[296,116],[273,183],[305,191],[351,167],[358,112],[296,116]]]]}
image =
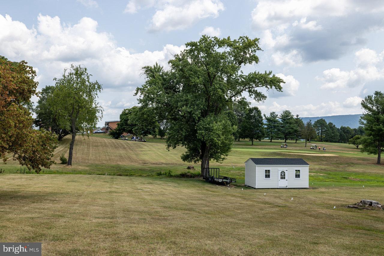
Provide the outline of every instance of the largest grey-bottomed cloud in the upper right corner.
{"type": "Polygon", "coordinates": [[[251,14],[262,44],[295,50],[303,61],[338,59],[363,45],[369,31],[383,29],[384,2],[358,0],[259,0],[251,14]],[[337,24],[337,25],[335,25],[337,24]]]}

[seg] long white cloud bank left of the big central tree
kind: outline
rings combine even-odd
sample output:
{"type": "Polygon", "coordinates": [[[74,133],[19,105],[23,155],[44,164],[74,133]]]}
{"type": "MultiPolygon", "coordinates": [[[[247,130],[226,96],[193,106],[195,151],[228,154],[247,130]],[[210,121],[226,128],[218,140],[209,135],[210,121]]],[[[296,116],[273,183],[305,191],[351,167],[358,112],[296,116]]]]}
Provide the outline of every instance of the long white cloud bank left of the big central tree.
{"type": "Polygon", "coordinates": [[[36,29],[28,29],[9,15],[0,15],[0,55],[25,59],[44,74],[45,81],[61,76],[63,69],[74,63],[97,74],[95,78],[104,87],[139,85],[142,66],[158,62],[167,67],[172,55],[185,48],[165,45],[158,51],[131,53],[117,46],[110,34],[98,32],[98,23],[91,18],[84,17],[74,25],[62,24],[57,16],[40,14],[37,20],[36,29]]]}

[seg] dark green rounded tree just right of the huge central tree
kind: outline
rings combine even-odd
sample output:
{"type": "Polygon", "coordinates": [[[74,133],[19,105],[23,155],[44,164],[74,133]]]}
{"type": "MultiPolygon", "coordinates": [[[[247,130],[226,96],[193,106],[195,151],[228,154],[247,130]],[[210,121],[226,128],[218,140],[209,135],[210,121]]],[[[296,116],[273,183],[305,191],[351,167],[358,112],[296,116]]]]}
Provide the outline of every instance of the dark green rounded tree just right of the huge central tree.
{"type": "Polygon", "coordinates": [[[250,139],[252,145],[254,140],[264,138],[263,116],[258,107],[248,109],[241,124],[241,131],[242,139],[250,139]]]}

